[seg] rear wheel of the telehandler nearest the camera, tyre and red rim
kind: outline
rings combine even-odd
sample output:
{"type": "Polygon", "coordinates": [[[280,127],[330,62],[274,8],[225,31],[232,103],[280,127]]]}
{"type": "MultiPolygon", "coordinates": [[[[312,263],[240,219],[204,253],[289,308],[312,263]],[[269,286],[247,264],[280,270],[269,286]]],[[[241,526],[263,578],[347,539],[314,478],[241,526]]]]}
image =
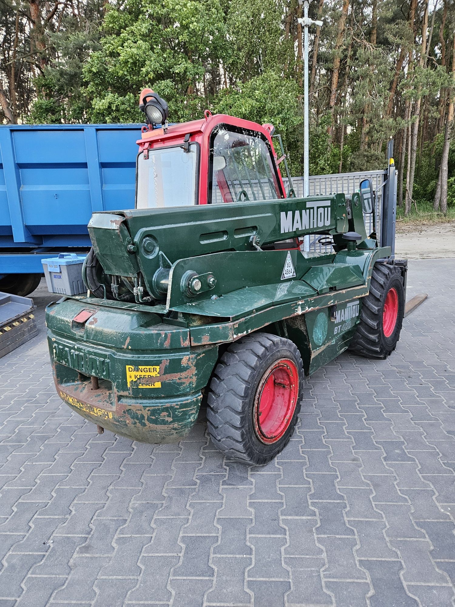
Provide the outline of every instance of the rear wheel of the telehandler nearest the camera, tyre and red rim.
{"type": "Polygon", "coordinates": [[[207,395],[215,446],[229,458],[263,465],[288,444],[302,401],[295,344],[269,333],[239,339],[221,356],[207,395]]]}

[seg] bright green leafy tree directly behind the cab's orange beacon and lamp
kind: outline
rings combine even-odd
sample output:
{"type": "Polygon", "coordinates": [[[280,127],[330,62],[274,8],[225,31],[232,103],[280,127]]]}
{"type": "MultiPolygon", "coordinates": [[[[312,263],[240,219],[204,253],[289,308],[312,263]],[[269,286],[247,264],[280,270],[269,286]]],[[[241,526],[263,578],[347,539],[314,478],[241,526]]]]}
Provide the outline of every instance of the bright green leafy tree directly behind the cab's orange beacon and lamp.
{"type": "Polygon", "coordinates": [[[207,68],[221,61],[225,36],[217,0],[129,0],[108,10],[103,33],[83,69],[90,120],[141,120],[146,86],[166,97],[173,121],[200,117],[212,78],[207,68]]]}

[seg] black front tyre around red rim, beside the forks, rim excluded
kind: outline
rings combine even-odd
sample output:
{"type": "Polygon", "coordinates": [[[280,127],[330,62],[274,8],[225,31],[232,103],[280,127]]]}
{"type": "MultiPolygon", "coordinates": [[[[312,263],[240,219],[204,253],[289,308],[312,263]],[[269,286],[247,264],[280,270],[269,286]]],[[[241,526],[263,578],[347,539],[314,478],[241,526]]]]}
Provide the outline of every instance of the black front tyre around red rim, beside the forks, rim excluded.
{"type": "Polygon", "coordinates": [[[363,298],[360,322],[349,350],[367,358],[387,358],[395,350],[405,313],[403,280],[400,271],[386,263],[375,263],[369,293],[363,298]],[[397,316],[393,331],[384,330],[384,305],[389,291],[397,296],[397,316]]]}

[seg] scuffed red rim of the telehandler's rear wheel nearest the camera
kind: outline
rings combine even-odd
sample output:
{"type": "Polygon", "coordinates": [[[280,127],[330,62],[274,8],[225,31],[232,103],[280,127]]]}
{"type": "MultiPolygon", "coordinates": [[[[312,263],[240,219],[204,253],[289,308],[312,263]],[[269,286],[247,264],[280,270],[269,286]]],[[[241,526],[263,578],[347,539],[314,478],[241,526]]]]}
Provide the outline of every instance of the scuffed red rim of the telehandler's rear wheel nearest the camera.
{"type": "Polygon", "coordinates": [[[254,398],[254,429],[263,443],[276,443],[286,432],[298,398],[294,362],[281,359],[264,373],[254,398]]]}

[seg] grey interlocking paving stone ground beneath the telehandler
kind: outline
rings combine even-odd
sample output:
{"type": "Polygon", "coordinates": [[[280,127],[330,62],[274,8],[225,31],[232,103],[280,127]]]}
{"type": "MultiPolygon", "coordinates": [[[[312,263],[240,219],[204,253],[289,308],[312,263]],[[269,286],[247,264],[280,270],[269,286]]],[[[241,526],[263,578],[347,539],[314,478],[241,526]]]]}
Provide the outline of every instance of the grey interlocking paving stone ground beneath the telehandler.
{"type": "Polygon", "coordinates": [[[455,260],[409,263],[386,361],[315,373],[289,446],[223,458],[72,413],[39,337],[0,360],[0,607],[455,605],[455,260]]]}

